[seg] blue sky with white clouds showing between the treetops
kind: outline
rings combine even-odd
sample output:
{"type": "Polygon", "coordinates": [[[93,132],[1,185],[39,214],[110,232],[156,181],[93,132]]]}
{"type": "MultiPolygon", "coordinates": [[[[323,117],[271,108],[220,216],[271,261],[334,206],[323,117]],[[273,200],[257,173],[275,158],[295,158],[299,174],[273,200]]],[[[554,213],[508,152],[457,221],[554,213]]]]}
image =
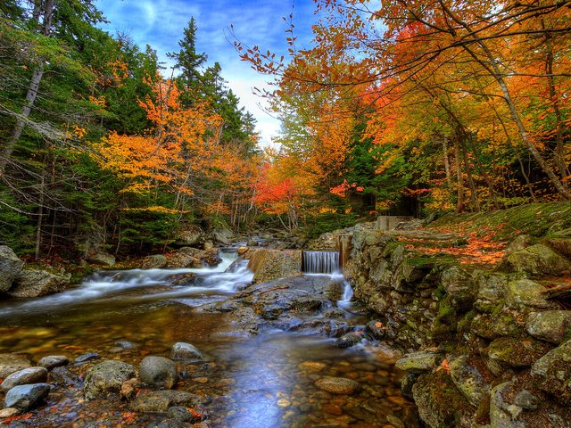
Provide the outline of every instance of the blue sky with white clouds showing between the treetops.
{"type": "Polygon", "coordinates": [[[127,33],[143,49],[151,45],[163,62],[167,52],[178,52],[191,16],[198,26],[197,47],[208,55],[208,65],[219,62],[228,86],[240,97],[242,105],[258,120],[261,144],[269,144],[277,134],[279,122],[262,111],[265,105],[252,87],[265,87],[270,78],[260,76],[246,62],[238,58],[234,46],[228,42],[230,25],[236,37],[247,45],[260,45],[277,54],[286,53],[285,30],[282,17],[294,13],[295,35],[300,47],[310,44],[310,26],[314,17],[312,0],[97,0],[109,24],[103,26],[110,33],[127,33]]]}

